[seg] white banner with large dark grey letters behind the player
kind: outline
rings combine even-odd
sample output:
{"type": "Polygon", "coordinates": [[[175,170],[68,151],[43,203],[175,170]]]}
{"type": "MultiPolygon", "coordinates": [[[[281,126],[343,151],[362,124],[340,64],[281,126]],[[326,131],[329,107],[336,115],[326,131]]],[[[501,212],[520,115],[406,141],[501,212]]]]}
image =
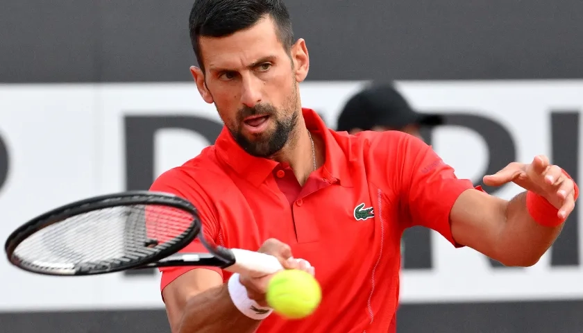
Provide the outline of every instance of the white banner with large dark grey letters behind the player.
{"type": "MultiPolygon", "coordinates": [[[[335,128],[344,102],[366,84],[303,83],[301,99],[335,128]]],[[[543,153],[581,181],[583,80],[397,85],[419,112],[446,117],[445,126],[424,135],[457,176],[480,185],[484,174],[543,153]]],[[[4,241],[19,224],[70,201],[147,189],[160,173],[212,144],[221,126],[214,105],[201,99],[194,83],[0,85],[0,238],[4,241]]],[[[507,199],[520,191],[514,185],[487,190],[507,199]]],[[[489,302],[520,308],[521,302],[552,306],[583,299],[579,212],[573,212],[557,244],[530,268],[506,268],[469,248],[456,250],[437,232],[407,232],[404,309],[445,304],[469,309],[489,302]]],[[[18,271],[6,259],[0,260],[0,271],[0,282],[11,286],[0,297],[0,312],[163,307],[156,271],[53,278],[18,271]]],[[[415,309],[419,313],[410,318],[423,315],[422,308],[415,309]]],[[[535,310],[525,316],[539,317],[535,310]]],[[[577,320],[581,326],[569,325],[583,327],[577,320]]],[[[482,332],[478,328],[471,330],[482,332]]],[[[530,332],[547,331],[533,327],[530,332]]]]}

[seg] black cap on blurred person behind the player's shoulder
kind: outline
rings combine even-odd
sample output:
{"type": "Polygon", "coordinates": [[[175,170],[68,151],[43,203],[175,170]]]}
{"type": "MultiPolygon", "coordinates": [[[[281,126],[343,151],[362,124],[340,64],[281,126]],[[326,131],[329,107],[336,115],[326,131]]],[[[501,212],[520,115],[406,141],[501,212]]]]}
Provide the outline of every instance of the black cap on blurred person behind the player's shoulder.
{"type": "Polygon", "coordinates": [[[411,124],[436,126],[442,123],[440,115],[415,112],[393,85],[381,84],[367,87],[346,102],[337,130],[371,130],[375,126],[400,130],[411,124]]]}

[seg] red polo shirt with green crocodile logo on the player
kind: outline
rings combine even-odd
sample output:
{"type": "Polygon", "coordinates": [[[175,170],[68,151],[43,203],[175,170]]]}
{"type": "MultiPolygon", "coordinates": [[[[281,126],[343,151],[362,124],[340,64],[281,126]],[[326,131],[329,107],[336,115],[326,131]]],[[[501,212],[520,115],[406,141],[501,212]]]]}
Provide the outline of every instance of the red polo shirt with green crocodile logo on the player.
{"type": "MultiPolygon", "coordinates": [[[[455,244],[450,209],[473,185],[411,135],[348,135],[326,128],[313,110],[303,117],[326,147],[326,161],[303,187],[287,165],[248,155],[223,128],[213,146],[151,190],[198,207],[209,241],[257,250],[276,238],[316,268],[323,291],[316,312],[299,321],[272,314],[257,332],[395,332],[403,230],[424,225],[455,244]]],[[[196,241],[183,250],[201,251],[196,241]]],[[[162,268],[161,288],[190,269],[201,268],[162,268]]]]}

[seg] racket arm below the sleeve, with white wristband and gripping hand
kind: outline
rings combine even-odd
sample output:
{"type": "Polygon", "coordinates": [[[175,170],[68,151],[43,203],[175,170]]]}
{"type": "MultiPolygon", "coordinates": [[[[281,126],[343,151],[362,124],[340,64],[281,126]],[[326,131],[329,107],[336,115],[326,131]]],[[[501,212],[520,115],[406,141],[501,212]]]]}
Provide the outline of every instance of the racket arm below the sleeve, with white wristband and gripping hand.
{"type": "MultiPolygon", "coordinates": [[[[314,275],[303,259],[294,259],[292,249],[277,239],[267,239],[257,252],[278,258],[282,268],[299,269],[314,275]]],[[[232,275],[223,284],[217,271],[196,268],[187,271],[162,289],[173,333],[253,333],[267,318],[265,292],[273,274],[260,277],[232,275]]]]}

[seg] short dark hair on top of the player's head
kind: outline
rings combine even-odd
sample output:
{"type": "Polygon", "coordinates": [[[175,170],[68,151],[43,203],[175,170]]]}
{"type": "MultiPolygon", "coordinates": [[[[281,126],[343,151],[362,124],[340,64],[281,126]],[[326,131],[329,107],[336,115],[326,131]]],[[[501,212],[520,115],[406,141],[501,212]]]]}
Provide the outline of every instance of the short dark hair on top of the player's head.
{"type": "Polygon", "coordinates": [[[294,44],[292,20],[282,0],[196,0],[188,26],[198,66],[204,71],[198,38],[224,37],[242,31],[269,15],[276,24],[278,40],[287,51],[294,44]]]}

